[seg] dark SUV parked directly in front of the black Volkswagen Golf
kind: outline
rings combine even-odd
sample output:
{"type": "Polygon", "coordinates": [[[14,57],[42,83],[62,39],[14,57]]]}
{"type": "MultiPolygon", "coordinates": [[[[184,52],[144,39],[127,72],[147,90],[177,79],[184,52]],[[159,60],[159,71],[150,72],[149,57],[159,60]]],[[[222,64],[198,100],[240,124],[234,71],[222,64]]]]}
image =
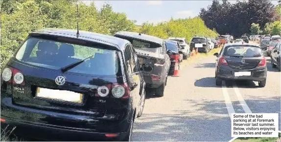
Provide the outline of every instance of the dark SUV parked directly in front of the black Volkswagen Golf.
{"type": "Polygon", "coordinates": [[[141,73],[146,86],[153,88],[156,96],[163,97],[171,65],[170,57],[166,53],[165,41],[135,32],[120,31],[114,36],[128,40],[133,44],[140,61],[141,73]]]}

